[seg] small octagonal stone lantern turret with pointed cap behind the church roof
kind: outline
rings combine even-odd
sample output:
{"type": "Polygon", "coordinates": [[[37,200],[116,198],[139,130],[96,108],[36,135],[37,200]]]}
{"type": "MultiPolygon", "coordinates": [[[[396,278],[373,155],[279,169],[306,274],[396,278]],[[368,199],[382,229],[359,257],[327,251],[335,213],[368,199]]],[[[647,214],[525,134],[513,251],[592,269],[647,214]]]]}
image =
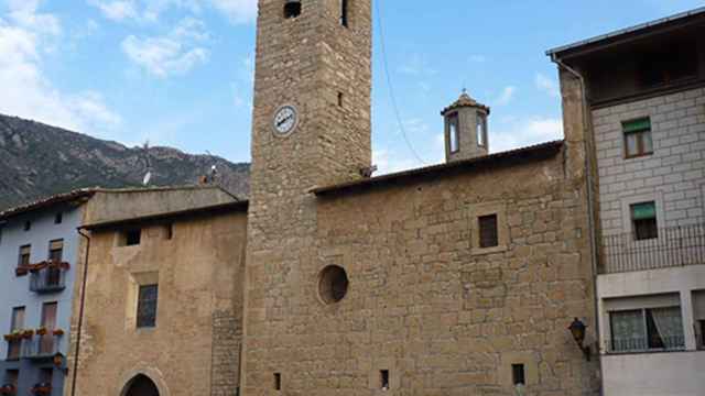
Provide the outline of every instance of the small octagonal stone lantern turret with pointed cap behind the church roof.
{"type": "Polygon", "coordinates": [[[489,152],[487,118],[489,108],[470,98],[465,90],[441,112],[445,121],[446,162],[485,156],[489,152]]]}

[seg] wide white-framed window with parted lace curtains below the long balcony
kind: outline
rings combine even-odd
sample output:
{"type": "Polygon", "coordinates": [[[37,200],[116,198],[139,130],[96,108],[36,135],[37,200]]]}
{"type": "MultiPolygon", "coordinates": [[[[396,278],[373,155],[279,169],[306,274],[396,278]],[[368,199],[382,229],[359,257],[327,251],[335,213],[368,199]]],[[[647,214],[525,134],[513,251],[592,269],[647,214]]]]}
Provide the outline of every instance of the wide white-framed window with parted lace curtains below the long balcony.
{"type": "Polygon", "coordinates": [[[607,302],[610,352],[671,351],[685,348],[677,294],[607,302]]]}

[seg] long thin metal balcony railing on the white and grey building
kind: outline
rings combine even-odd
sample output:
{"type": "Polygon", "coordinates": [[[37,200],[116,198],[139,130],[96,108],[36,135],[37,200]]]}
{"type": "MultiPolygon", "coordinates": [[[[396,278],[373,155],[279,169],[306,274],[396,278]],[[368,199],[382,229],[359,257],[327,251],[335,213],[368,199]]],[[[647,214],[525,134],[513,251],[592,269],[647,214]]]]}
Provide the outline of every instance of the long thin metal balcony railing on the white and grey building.
{"type": "Polygon", "coordinates": [[[705,264],[705,223],[659,229],[654,239],[634,237],[605,237],[601,274],[705,264]]]}

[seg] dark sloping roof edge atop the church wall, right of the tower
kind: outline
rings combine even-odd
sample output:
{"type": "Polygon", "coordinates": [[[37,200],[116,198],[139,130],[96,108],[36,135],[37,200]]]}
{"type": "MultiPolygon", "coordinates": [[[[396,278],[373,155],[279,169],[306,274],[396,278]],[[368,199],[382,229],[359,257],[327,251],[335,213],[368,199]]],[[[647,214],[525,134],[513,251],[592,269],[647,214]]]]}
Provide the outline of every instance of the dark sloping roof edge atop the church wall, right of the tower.
{"type": "Polygon", "coordinates": [[[355,182],[343,183],[333,186],[312,189],[316,196],[345,194],[352,190],[369,189],[373,187],[390,186],[419,178],[437,178],[441,176],[469,173],[505,165],[523,164],[532,161],[541,161],[555,156],[563,148],[564,141],[553,141],[502,153],[485,155],[476,158],[455,161],[441,165],[382,175],[355,182]]]}

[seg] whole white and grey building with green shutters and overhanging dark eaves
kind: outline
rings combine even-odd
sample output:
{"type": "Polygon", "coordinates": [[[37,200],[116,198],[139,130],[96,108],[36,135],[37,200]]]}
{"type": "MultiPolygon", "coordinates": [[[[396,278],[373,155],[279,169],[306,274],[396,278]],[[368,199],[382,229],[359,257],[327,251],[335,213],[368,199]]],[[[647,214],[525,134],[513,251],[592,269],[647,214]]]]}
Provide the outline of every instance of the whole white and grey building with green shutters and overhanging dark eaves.
{"type": "Polygon", "coordinates": [[[704,22],[694,10],[549,52],[583,79],[594,138],[606,395],[705,394],[704,22]]]}

